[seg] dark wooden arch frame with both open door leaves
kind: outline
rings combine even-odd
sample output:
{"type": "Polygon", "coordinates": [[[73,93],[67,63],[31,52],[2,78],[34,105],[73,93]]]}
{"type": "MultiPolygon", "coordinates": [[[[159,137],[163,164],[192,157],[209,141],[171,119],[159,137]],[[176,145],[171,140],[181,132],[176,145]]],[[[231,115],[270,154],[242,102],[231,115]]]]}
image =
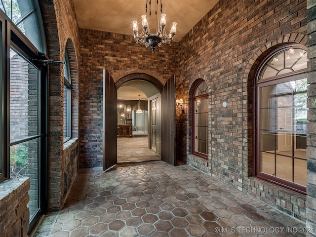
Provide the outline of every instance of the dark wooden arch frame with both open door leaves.
{"type": "Polygon", "coordinates": [[[103,170],[111,169],[118,162],[117,149],[113,149],[117,147],[118,139],[117,90],[124,83],[132,80],[150,82],[161,93],[161,105],[163,105],[161,107],[161,160],[175,165],[175,76],[171,76],[164,85],[150,75],[138,73],[127,75],[114,83],[109,72],[104,70],[103,170]]]}

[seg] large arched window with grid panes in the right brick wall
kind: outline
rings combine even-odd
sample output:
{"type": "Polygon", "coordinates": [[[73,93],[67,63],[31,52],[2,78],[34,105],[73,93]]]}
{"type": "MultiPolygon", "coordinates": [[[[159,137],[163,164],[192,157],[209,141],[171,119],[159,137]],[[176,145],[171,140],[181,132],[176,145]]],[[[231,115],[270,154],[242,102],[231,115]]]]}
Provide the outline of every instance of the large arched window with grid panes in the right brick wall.
{"type": "Polygon", "coordinates": [[[306,192],[307,57],[282,46],[259,67],[256,88],[255,175],[306,192]]]}

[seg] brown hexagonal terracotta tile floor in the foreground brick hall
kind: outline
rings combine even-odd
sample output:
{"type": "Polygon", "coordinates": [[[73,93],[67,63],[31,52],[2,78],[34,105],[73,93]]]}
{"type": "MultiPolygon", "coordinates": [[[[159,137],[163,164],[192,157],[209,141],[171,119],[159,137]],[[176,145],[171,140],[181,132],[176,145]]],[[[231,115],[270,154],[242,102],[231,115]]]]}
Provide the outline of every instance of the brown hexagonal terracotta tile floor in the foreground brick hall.
{"type": "Polygon", "coordinates": [[[64,208],[35,237],[304,236],[286,227],[305,224],[191,166],[159,160],[81,169],[64,208]]]}

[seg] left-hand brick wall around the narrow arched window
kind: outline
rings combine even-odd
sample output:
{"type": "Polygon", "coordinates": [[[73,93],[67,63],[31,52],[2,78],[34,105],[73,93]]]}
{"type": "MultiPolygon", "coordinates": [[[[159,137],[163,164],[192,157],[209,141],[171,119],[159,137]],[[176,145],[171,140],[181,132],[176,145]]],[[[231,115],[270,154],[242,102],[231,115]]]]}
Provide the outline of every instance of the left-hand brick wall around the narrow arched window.
{"type": "MultiPolygon", "coordinates": [[[[72,77],[72,135],[79,136],[79,27],[73,1],[39,0],[44,22],[47,55],[51,60],[64,60],[67,47],[72,77]]],[[[48,78],[48,207],[59,210],[78,169],[78,139],[63,144],[63,65],[50,64],[48,78]],[[69,150],[74,149],[74,150],[69,150]],[[70,156],[70,154],[76,154],[70,156]],[[74,158],[71,162],[69,158],[74,158]],[[76,160],[77,159],[77,160],[76,160]],[[69,165],[72,164],[71,167],[69,165]],[[65,178],[67,176],[67,178],[65,178]]]]}

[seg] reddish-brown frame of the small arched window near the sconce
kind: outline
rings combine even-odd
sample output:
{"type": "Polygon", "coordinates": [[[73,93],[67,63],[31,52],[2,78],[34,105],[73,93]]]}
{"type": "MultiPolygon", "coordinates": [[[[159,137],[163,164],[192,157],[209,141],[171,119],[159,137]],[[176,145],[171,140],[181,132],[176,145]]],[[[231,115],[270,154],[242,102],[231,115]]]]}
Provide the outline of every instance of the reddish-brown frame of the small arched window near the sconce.
{"type": "MultiPolygon", "coordinates": [[[[201,152],[196,151],[196,149],[195,149],[195,142],[196,142],[196,138],[195,138],[195,136],[196,136],[196,124],[195,124],[195,122],[196,122],[196,118],[195,118],[195,109],[196,109],[196,107],[195,107],[195,101],[201,100],[201,99],[207,99],[207,103],[206,103],[207,105],[208,105],[208,102],[209,102],[208,101],[208,93],[195,96],[198,86],[201,83],[203,83],[203,82],[206,83],[206,81],[203,80],[203,79],[199,79],[197,81],[197,83],[196,83],[196,85],[194,87],[194,90],[193,90],[193,95],[192,95],[192,101],[193,101],[193,103],[192,103],[192,127],[193,127],[193,129],[192,129],[192,154],[197,156],[197,157],[200,157],[200,158],[208,160],[208,153],[207,154],[201,153],[201,152]]],[[[208,113],[207,113],[207,115],[208,115],[208,113]]],[[[207,127],[208,127],[208,116],[207,116],[207,127]]],[[[208,129],[207,129],[207,133],[206,134],[207,134],[207,152],[208,152],[208,141],[209,141],[208,140],[208,129]]]]}

